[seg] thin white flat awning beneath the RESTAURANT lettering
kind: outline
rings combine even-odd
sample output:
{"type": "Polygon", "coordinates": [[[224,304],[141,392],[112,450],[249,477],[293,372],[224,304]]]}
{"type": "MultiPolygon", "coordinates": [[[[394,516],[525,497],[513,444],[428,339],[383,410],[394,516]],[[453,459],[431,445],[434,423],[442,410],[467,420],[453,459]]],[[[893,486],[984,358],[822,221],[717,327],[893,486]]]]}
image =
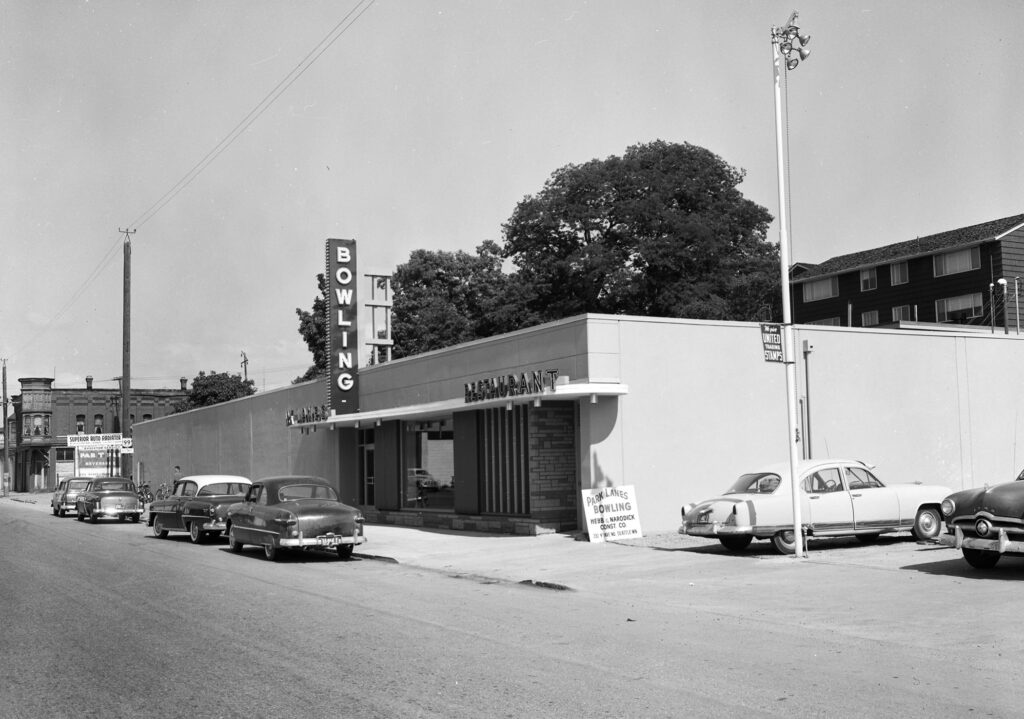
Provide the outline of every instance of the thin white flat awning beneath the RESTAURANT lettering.
{"type": "Polygon", "coordinates": [[[348,415],[333,415],[324,420],[315,422],[298,422],[292,427],[308,429],[310,427],[372,427],[378,422],[388,420],[414,420],[424,417],[435,417],[437,415],[450,415],[453,412],[465,412],[467,410],[484,410],[495,407],[508,407],[511,409],[515,405],[543,405],[546,401],[562,401],[565,399],[589,398],[596,403],[598,397],[620,396],[629,393],[629,386],[618,382],[581,382],[578,384],[559,384],[554,389],[545,389],[543,392],[532,394],[520,394],[516,396],[496,397],[494,399],[482,399],[480,401],[469,401],[465,399],[442,399],[440,401],[425,403],[423,405],[407,405],[404,407],[388,408],[386,410],[372,410],[369,412],[353,412],[348,415]]]}

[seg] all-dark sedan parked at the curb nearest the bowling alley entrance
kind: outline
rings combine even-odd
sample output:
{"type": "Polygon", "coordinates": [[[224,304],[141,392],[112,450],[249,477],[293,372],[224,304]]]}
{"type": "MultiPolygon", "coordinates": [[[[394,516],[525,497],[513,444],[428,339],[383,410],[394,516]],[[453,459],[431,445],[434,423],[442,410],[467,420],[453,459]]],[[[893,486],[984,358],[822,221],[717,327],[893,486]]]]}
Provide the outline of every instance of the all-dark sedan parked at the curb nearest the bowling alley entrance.
{"type": "Polygon", "coordinates": [[[268,477],[253,482],[245,500],[227,510],[227,546],[263,548],[267,559],[282,549],[328,549],[347,559],[362,544],[362,513],[342,504],[321,477],[268,477]]]}

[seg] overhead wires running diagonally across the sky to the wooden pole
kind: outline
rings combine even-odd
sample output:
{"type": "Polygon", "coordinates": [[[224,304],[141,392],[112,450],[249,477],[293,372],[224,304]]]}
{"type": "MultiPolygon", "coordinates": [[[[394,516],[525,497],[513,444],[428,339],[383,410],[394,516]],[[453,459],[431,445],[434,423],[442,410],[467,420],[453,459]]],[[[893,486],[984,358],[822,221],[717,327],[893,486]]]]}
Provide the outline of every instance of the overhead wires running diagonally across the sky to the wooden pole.
{"type": "MultiPolygon", "coordinates": [[[[342,17],[337,25],[335,25],[331,31],[321,40],[313,48],[306,53],[306,55],[271,89],[267,92],[263,98],[256,103],[256,105],[249,111],[249,113],[241,120],[239,123],[228,132],[224,137],[216,144],[214,147],[208,152],[203,158],[197,162],[193,167],[171,186],[166,193],[164,193],[157,202],[151,205],[145,211],[139,214],[135,220],[129,223],[128,227],[131,229],[137,229],[141,225],[148,222],[157,215],[164,207],[168,205],[175,197],[178,196],[181,191],[187,187],[191,182],[199,177],[199,175],[209,167],[214,160],[216,160],[225,150],[227,150],[237,140],[243,132],[249,129],[250,126],[256,120],[259,119],[263,113],[265,113],[270,105],[272,105],[276,99],[284,94],[285,90],[292,86],[296,80],[302,77],[307,70],[309,70],[312,65],[319,59],[319,57],[327,52],[328,49],[334,43],[341,38],[348,30],[355,24],[362,14],[373,6],[376,0],[358,0],[355,5],[350,9],[344,17],[342,17]]],[[[114,260],[118,254],[118,250],[122,246],[121,235],[119,232],[118,240],[106,250],[103,256],[100,258],[99,262],[92,269],[91,272],[86,277],[82,284],[72,293],[71,298],[60,305],[60,308],[39,329],[39,331],[33,335],[29,341],[24,343],[17,352],[14,352],[16,356],[20,352],[25,351],[28,347],[39,339],[54,322],[59,320],[63,314],[71,309],[78,299],[85,293],[86,289],[96,281],[96,279],[102,273],[106,266],[114,260]]]]}

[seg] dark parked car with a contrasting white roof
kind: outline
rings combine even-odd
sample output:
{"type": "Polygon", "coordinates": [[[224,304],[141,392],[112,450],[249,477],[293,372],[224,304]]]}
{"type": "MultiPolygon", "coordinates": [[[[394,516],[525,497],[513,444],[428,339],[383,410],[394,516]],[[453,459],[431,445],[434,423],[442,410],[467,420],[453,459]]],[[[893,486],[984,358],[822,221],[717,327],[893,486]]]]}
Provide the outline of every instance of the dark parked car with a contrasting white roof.
{"type": "Polygon", "coordinates": [[[194,544],[219,537],[227,528],[227,508],[241,501],[252,484],[230,474],[197,474],[175,480],[171,496],[150,505],[153,535],[187,532],[194,544]]]}

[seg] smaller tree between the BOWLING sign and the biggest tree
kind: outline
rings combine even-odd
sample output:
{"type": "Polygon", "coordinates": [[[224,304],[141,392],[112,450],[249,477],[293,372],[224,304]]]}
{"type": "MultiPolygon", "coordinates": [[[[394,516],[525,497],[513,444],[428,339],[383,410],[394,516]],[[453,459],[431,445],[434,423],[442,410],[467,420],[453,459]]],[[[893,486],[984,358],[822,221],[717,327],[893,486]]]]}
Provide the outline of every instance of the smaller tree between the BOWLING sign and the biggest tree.
{"type": "Polygon", "coordinates": [[[392,356],[449,347],[532,324],[515,279],[502,271],[501,248],[485,241],[462,250],[415,250],[392,278],[392,356]],[[519,299],[517,299],[519,298],[519,299]]]}

